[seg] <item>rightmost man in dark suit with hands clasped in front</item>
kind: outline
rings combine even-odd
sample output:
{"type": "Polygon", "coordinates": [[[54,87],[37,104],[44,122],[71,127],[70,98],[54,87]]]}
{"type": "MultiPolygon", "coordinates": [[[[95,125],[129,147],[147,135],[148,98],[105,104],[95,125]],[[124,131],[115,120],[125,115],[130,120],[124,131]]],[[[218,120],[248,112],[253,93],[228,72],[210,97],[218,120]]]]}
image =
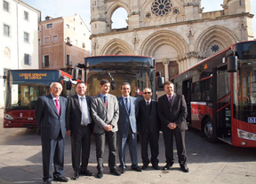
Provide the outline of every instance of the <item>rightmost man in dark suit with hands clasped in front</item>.
{"type": "Polygon", "coordinates": [[[186,147],[185,147],[185,130],[187,125],[187,104],[184,96],[174,93],[174,85],[167,81],[164,83],[166,95],[158,98],[158,117],[161,121],[161,127],[164,134],[164,147],[166,165],[164,170],[172,167],[173,158],[173,135],[176,141],[180,168],[183,172],[188,173],[186,164],[186,147]]]}

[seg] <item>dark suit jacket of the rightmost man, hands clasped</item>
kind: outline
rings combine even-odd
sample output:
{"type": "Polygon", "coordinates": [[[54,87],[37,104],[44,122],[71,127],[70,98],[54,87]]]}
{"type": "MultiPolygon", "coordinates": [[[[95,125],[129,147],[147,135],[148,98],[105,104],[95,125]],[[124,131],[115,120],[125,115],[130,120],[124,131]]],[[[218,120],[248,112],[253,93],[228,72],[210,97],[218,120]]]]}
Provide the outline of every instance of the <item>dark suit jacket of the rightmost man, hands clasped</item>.
{"type": "MultiPolygon", "coordinates": [[[[184,96],[174,93],[172,104],[169,103],[166,95],[158,98],[158,117],[161,121],[163,132],[170,130],[168,124],[175,122],[177,130],[184,131],[188,129],[186,118],[188,116],[187,104],[184,96]]],[[[176,129],[175,128],[175,129],[176,129]]]]}

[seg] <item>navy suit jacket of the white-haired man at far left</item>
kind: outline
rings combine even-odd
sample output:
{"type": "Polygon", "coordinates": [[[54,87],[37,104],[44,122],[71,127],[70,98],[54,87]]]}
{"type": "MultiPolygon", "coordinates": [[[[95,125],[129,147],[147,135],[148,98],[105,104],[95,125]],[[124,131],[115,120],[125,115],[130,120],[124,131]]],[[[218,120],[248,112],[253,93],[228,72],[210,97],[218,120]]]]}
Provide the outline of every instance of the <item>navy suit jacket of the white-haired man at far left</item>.
{"type": "Polygon", "coordinates": [[[42,138],[56,139],[58,135],[62,134],[64,138],[66,135],[66,108],[67,98],[60,96],[60,115],[56,109],[56,105],[52,100],[52,95],[40,96],[36,102],[36,124],[38,126],[37,134],[42,138]]]}

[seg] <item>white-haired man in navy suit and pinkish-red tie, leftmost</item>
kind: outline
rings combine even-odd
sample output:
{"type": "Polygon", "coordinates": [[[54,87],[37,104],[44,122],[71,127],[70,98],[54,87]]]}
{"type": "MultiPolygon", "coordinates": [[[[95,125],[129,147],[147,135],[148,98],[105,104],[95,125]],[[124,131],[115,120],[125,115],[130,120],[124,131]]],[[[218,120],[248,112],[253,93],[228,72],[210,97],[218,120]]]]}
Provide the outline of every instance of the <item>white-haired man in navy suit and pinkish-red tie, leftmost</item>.
{"type": "Polygon", "coordinates": [[[52,161],[54,165],[53,180],[67,182],[63,176],[64,145],[66,135],[66,107],[68,100],[60,96],[62,86],[52,82],[51,94],[40,96],[36,102],[37,133],[41,135],[44,183],[52,183],[52,161]]]}

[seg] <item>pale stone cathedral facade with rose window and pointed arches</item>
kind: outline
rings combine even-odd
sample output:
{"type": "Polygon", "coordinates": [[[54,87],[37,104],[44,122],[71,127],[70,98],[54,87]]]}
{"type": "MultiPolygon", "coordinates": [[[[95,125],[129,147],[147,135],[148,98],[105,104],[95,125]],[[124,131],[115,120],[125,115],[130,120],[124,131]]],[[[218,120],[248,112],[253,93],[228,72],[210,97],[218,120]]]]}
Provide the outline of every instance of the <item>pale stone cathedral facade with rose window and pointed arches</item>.
{"type": "Polygon", "coordinates": [[[203,12],[201,0],[92,0],[92,56],[154,57],[156,70],[170,80],[233,43],[254,38],[250,0],[223,0],[221,6],[203,12]],[[120,7],[128,26],[112,29],[120,7]]]}

